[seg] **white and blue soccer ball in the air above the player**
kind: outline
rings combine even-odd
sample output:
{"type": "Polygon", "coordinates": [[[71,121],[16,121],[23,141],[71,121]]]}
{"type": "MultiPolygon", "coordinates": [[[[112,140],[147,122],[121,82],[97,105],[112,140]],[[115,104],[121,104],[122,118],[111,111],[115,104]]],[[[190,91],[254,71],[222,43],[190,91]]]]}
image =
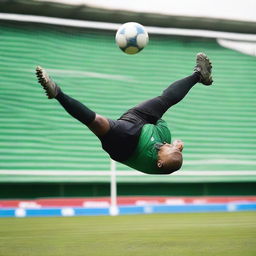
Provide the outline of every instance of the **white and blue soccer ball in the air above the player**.
{"type": "Polygon", "coordinates": [[[123,24],[116,32],[116,44],[127,54],[140,52],[148,43],[148,33],[136,22],[123,24]]]}

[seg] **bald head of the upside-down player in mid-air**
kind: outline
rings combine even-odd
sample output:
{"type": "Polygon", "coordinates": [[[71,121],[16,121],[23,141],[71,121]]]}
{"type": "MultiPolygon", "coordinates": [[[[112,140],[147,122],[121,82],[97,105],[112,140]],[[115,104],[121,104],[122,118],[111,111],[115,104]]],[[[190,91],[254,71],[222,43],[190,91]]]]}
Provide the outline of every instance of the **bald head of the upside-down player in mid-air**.
{"type": "Polygon", "coordinates": [[[182,150],[184,143],[181,140],[175,140],[172,144],[163,144],[158,151],[157,166],[166,173],[172,173],[179,170],[182,166],[182,150]]]}

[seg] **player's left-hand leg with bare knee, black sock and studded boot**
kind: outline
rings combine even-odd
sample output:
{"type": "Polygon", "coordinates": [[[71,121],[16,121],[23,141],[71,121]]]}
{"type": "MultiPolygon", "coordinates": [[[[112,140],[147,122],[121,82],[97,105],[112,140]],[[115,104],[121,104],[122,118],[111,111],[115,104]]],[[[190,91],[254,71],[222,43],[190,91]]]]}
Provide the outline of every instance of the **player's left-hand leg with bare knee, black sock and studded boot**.
{"type": "Polygon", "coordinates": [[[57,99],[71,116],[88,126],[95,135],[102,136],[108,132],[110,125],[107,118],[96,114],[79,101],[63,93],[41,67],[36,68],[36,75],[49,99],[57,99]]]}

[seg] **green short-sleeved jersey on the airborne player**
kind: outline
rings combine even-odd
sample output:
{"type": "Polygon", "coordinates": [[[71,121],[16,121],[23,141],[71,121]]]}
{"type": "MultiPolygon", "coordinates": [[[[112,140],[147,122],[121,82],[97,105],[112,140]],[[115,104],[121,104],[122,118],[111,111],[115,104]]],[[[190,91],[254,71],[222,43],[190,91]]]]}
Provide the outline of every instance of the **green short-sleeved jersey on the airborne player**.
{"type": "Polygon", "coordinates": [[[122,163],[138,171],[148,174],[165,174],[157,167],[157,143],[171,143],[171,133],[167,123],[160,119],[156,125],[143,126],[139,142],[132,156],[122,163]]]}

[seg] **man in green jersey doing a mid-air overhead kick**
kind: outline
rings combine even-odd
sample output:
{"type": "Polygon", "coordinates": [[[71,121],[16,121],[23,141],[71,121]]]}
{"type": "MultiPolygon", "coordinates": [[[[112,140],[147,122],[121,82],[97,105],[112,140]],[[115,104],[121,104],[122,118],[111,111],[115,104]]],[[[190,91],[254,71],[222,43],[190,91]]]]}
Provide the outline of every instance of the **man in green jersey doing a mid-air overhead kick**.
{"type": "Polygon", "coordinates": [[[142,102],[118,120],[96,114],[64,94],[41,67],[36,68],[39,83],[49,99],[55,98],[74,118],[85,124],[101,141],[102,148],[116,161],[148,174],[170,174],[182,166],[183,142],[171,144],[171,134],[163,114],[181,101],[196,84],[212,84],[211,62],[204,53],[196,56],[194,73],[178,80],[160,96],[142,102]]]}

